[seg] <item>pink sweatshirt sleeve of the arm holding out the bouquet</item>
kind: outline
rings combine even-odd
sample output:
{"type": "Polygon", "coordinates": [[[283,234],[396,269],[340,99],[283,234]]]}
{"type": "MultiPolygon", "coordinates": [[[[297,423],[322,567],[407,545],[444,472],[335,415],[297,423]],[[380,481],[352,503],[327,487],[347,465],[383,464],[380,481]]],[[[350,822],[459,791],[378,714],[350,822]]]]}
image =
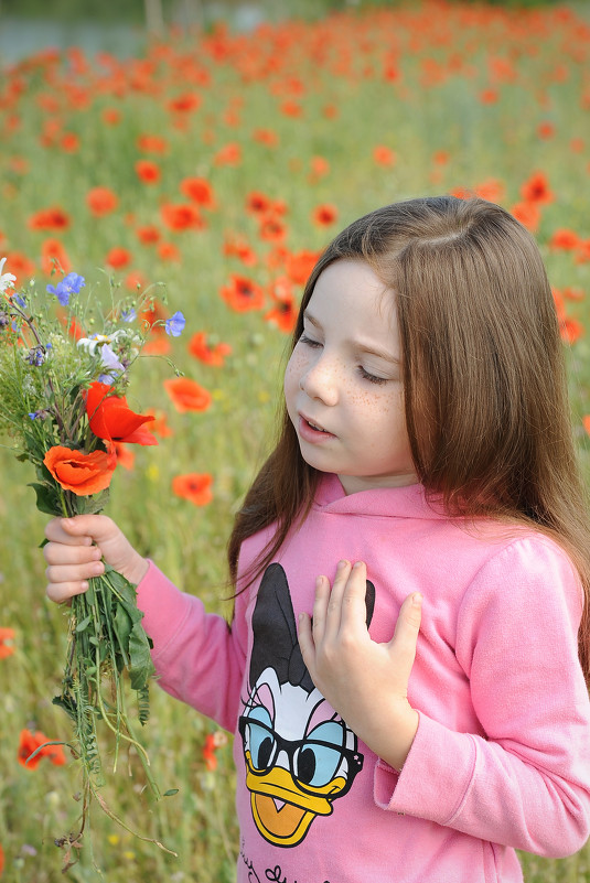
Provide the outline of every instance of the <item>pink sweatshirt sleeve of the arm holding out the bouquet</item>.
{"type": "MultiPolygon", "coordinates": [[[[244,595],[236,599],[236,611],[244,595]]],[[[151,561],[138,585],[138,607],[153,642],[160,687],[233,731],[247,648],[244,612],[229,626],[223,616],[206,613],[199,597],[176,589],[151,561]]]]}

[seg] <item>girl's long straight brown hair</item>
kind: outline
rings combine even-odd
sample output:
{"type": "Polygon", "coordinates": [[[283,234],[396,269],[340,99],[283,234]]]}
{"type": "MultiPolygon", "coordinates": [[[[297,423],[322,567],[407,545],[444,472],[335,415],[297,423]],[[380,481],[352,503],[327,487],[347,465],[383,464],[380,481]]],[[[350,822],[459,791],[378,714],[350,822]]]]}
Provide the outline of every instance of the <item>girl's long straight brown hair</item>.
{"type": "MultiPolygon", "coordinates": [[[[580,659],[590,675],[590,527],[571,433],[562,344],[539,250],[483,200],[423,197],[378,208],[328,246],[303,293],[291,347],[320,273],[363,260],[394,292],[408,435],[416,473],[450,516],[534,526],[570,554],[584,590],[580,659]]],[[[311,506],[319,473],[301,456],[285,403],[275,450],[228,543],[276,523],[248,574],[273,558],[311,506]]]]}

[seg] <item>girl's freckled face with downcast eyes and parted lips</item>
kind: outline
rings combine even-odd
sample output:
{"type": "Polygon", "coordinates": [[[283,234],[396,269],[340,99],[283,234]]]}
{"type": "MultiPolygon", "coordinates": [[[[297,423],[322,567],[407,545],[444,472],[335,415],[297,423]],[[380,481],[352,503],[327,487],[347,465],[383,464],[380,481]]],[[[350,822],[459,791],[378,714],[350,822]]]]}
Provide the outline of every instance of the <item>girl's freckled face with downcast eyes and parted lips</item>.
{"type": "Polygon", "coordinates": [[[335,472],[346,494],[418,481],[400,358],[391,292],[364,261],[326,267],[287,365],[285,396],[303,459],[335,472]]]}

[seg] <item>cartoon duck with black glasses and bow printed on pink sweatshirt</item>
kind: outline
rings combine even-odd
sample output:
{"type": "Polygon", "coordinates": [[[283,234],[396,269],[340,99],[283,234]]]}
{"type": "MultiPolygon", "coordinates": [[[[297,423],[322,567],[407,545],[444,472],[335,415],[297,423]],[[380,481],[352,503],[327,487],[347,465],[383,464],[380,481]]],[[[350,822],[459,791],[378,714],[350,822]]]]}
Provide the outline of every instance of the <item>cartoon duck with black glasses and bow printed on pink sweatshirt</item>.
{"type": "MultiPolygon", "coordinates": [[[[367,581],[367,624],[375,589],[367,581]]],[[[297,638],[283,568],[270,564],[253,614],[249,693],[239,718],[253,818],[278,847],[298,846],[330,816],[363,767],[357,740],[314,687],[297,638]]]]}

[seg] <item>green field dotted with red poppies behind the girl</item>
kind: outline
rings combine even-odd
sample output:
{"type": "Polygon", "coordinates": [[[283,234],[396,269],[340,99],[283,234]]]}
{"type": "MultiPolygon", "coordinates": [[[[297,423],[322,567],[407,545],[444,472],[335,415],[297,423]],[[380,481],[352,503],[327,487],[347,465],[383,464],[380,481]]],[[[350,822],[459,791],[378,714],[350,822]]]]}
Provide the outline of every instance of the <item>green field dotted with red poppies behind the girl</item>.
{"type": "MultiPolygon", "coordinates": [[[[127,399],[154,418],[158,444],[117,445],[107,514],[210,610],[230,614],[225,545],[273,441],[307,276],[340,228],[379,205],[476,193],[535,234],[590,481],[586,3],[440,0],[247,33],[219,23],[129,58],[47,50],[2,71],[0,130],[0,259],[17,290],[74,273],[97,303],[150,292],[135,321],[159,324],[127,399]],[[178,311],[182,329],[170,325],[178,311]]],[[[230,740],[155,686],[142,740],[174,794],[150,799],[130,752],[103,789],[124,825],[95,807],[84,848],[68,842],[78,771],[52,703],[67,611],[45,597],[34,475],[0,442],[2,883],[99,872],[108,883],[230,883],[230,740]]],[[[590,881],[588,848],[523,862],[530,883],[590,881]]]]}

